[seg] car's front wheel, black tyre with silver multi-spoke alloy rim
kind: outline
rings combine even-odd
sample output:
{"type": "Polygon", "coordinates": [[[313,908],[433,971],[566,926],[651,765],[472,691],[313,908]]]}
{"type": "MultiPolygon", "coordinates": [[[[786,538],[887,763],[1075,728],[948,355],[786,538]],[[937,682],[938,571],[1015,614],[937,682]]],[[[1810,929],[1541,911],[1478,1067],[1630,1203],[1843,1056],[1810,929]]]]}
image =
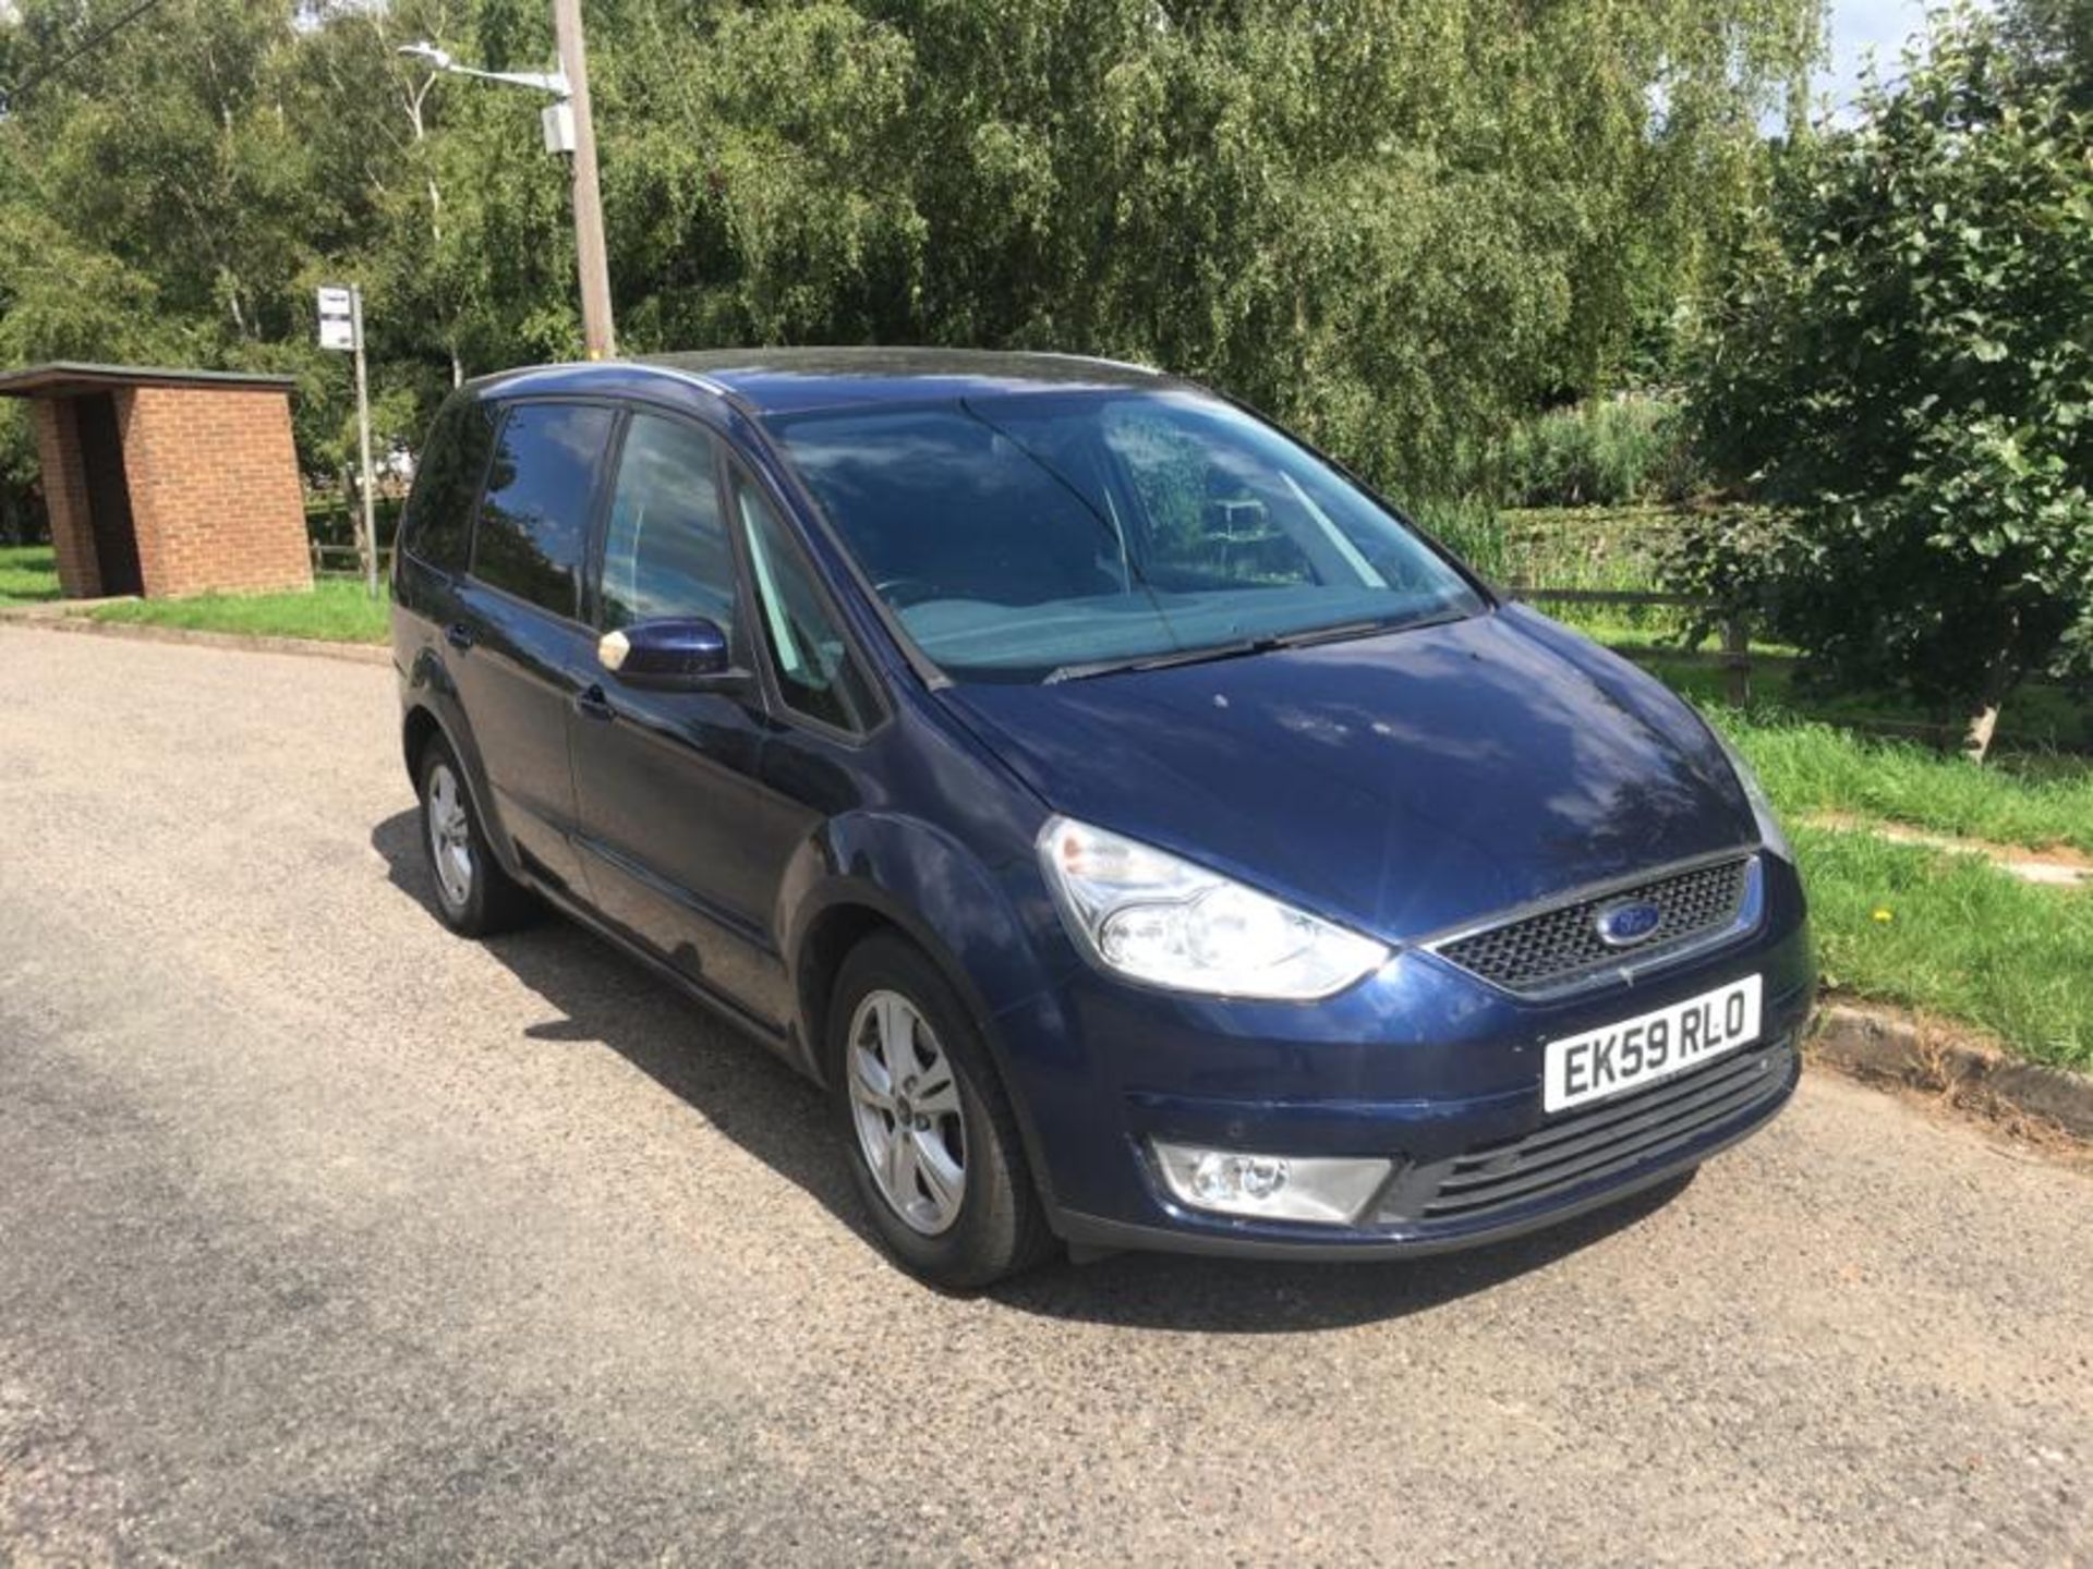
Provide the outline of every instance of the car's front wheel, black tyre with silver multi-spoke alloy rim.
{"type": "Polygon", "coordinates": [[[915,1276],[980,1291],[1055,1247],[1017,1115],[950,981],[898,935],[843,960],[827,1067],[852,1178],[915,1276]]]}

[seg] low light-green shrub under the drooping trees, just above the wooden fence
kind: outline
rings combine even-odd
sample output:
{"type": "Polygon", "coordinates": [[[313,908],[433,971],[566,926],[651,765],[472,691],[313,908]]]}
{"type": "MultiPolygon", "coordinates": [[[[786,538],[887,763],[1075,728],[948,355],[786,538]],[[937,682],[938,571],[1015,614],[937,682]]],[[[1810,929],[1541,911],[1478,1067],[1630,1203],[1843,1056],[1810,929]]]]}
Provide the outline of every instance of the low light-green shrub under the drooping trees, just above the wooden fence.
{"type": "Polygon", "coordinates": [[[1513,506],[1681,502],[1700,490],[1681,408],[1614,397],[1526,420],[1494,454],[1494,483],[1513,506]]]}

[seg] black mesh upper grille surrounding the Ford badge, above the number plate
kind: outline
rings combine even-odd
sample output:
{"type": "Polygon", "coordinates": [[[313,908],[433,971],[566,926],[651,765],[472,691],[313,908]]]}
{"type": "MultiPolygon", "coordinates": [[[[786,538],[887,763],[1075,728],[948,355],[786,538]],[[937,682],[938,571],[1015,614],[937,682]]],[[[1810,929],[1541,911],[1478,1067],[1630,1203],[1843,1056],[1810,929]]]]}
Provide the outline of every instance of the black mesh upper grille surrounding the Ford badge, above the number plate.
{"type": "Polygon", "coordinates": [[[1695,866],[1689,872],[1507,920],[1457,937],[1438,952],[1507,992],[1555,992],[1622,964],[1643,964],[1700,946],[1702,939],[1727,931],[1743,908],[1750,868],[1750,856],[1695,866]],[[1599,912],[1622,900],[1653,904],[1662,916],[1633,948],[1612,948],[1599,937],[1599,912]]]}

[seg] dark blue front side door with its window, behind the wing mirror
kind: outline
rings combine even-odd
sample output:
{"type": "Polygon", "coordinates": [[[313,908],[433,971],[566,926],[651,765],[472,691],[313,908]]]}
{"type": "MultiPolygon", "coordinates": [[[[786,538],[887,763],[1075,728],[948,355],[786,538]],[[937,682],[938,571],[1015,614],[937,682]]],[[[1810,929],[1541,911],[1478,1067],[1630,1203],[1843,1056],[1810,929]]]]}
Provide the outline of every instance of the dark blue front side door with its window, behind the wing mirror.
{"type": "MultiPolygon", "coordinates": [[[[597,567],[594,630],[716,621],[749,665],[718,441],[701,425],[632,412],[597,567]]],[[[601,663],[576,703],[580,847],[597,908],[689,979],[772,1021],[772,889],[751,854],[764,726],[758,686],[649,692],[601,663]]]]}

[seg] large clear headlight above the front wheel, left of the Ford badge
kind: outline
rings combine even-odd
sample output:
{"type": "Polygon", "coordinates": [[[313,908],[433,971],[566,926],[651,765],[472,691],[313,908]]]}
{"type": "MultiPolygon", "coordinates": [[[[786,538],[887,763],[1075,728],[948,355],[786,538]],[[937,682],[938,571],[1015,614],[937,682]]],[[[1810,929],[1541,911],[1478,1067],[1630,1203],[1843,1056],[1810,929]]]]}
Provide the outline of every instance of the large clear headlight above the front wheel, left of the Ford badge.
{"type": "Polygon", "coordinates": [[[1038,845],[1078,946],[1132,981],[1312,1002],[1388,962],[1371,937],[1116,833],[1051,818],[1038,845]]]}

